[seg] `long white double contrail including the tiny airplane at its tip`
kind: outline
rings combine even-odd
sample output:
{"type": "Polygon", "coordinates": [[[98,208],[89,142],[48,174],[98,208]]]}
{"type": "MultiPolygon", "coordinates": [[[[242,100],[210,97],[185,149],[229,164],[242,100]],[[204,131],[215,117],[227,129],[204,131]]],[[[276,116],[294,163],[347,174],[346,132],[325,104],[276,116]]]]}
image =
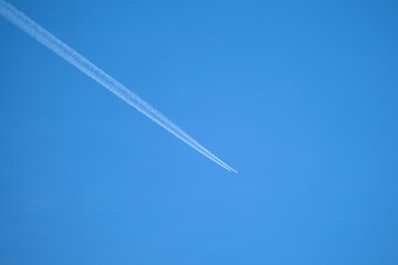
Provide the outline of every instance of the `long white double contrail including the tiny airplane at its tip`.
{"type": "Polygon", "coordinates": [[[186,142],[188,146],[192,147],[195,150],[202,153],[205,157],[209,158],[213,162],[223,167],[224,169],[237,173],[237,170],[224,163],[221,159],[212,155],[208,149],[202,147],[192,137],[187,135],[182,129],[177,125],[171,123],[158,110],[153,108],[148,103],[142,99],[139,96],[130,92],[127,87],[122,85],[119,82],[114,80],[111,75],[106,74],[104,71],[95,66],[84,56],[78,54],[75,50],[60,41],[49,31],[44,30],[33,20],[28,18],[12,4],[8,3],[4,0],[0,0],[0,13],[11,23],[20,28],[27,34],[35,39],[38,42],[42,43],[44,46],[49,47],[51,51],[60,55],[63,60],[74,65],[76,68],[92,77],[94,81],[109,89],[116,96],[121,97],[127,104],[135,107],[138,112],[164,127],[166,130],[175,135],[177,138],[186,142]]]}

